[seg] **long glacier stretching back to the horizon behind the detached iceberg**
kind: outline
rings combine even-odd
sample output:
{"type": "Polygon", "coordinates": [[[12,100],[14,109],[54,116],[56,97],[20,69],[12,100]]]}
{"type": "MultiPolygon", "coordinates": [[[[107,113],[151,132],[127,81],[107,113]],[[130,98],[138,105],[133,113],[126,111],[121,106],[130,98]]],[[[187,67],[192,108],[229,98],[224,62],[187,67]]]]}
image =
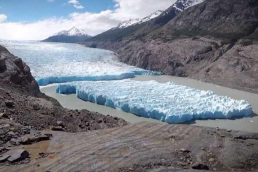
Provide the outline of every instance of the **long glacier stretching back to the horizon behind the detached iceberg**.
{"type": "Polygon", "coordinates": [[[1,40],[0,44],[30,66],[40,86],[163,74],[121,63],[112,51],[86,48],[79,44],[6,40],[1,40]]]}

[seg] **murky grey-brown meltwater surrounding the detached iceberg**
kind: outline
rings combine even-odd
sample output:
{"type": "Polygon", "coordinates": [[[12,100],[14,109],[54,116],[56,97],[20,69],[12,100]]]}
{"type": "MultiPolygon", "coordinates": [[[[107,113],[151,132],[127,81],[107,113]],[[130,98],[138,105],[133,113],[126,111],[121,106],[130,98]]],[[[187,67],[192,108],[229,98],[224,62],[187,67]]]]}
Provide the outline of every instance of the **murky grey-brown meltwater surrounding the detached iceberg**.
{"type": "MultiPolygon", "coordinates": [[[[199,80],[194,80],[190,78],[181,78],[174,76],[139,76],[136,75],[135,78],[131,80],[139,80],[139,81],[147,81],[147,80],[156,80],[159,83],[165,83],[168,81],[175,82],[180,85],[187,85],[192,88],[201,89],[201,90],[211,90],[216,92],[216,94],[221,96],[229,96],[233,99],[244,99],[247,100],[253,106],[253,115],[247,118],[233,118],[233,119],[202,119],[202,120],[193,120],[190,122],[186,122],[183,124],[188,125],[196,125],[196,126],[204,126],[204,127],[219,127],[224,129],[233,129],[233,130],[241,130],[248,132],[258,132],[258,94],[254,94],[251,92],[244,92],[241,90],[235,90],[232,88],[227,88],[223,86],[214,85],[211,83],[201,82],[199,80]]],[[[41,87],[41,92],[46,95],[53,97],[59,101],[59,103],[68,109],[87,109],[89,111],[96,111],[102,113],[104,115],[112,115],[117,116],[126,120],[129,123],[137,123],[137,122],[154,122],[154,123],[163,123],[156,119],[139,117],[131,113],[127,113],[121,111],[119,109],[113,109],[106,106],[94,104],[91,102],[86,102],[80,100],[76,97],[75,94],[71,95],[61,95],[55,92],[56,85],[50,85],[41,87]]]]}

